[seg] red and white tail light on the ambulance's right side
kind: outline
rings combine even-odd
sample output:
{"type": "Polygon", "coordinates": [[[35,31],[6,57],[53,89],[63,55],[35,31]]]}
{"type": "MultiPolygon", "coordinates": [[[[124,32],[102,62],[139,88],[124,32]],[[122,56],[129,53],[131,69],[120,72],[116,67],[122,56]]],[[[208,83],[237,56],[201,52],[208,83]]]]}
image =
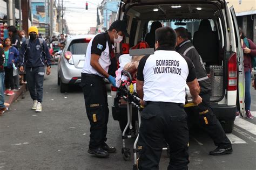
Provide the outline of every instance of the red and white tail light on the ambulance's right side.
{"type": "Polygon", "coordinates": [[[227,90],[237,90],[237,54],[232,54],[228,60],[227,90]]]}

